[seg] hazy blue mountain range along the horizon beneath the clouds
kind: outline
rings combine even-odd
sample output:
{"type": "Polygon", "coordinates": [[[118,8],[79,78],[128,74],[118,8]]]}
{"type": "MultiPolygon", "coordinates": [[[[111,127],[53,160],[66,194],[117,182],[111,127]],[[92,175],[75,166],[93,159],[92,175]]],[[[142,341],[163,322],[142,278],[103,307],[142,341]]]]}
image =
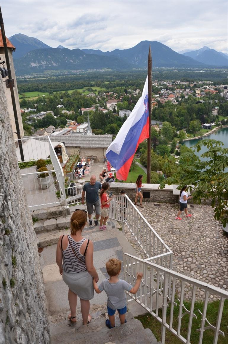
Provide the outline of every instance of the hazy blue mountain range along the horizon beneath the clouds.
{"type": "Polygon", "coordinates": [[[208,67],[208,65],[216,66],[215,63],[211,63],[213,57],[207,58],[209,62],[204,62],[206,57],[200,57],[208,51],[210,55],[217,56],[218,66],[227,66],[228,64],[228,56],[207,47],[204,47],[207,49],[202,48],[202,52],[199,50],[178,54],[168,46],[156,41],[142,41],[129,49],[102,52],[94,49],[70,50],[63,46],[52,48],[34,37],[20,33],[9,37],[9,40],[16,48],[16,51],[13,52],[13,58],[18,75],[42,73],[47,70],[147,68],[149,45],[151,45],[152,63],[155,67],[203,68],[208,67]],[[199,53],[197,54],[197,52],[199,53]]]}

